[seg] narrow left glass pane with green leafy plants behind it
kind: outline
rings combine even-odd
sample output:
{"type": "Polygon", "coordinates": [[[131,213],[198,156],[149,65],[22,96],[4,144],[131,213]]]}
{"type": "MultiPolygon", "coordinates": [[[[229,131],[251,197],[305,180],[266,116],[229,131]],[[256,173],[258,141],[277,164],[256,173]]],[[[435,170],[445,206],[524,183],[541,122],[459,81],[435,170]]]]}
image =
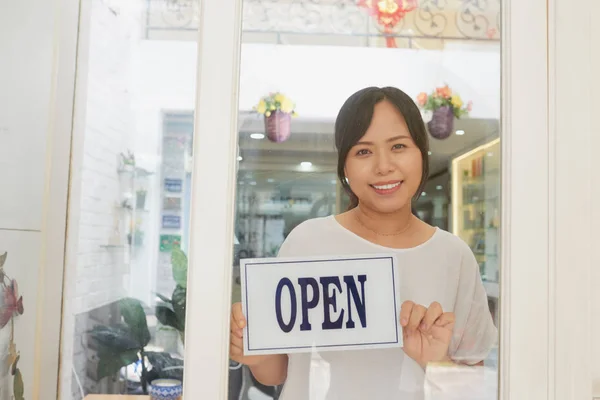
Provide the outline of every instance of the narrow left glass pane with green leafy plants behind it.
{"type": "Polygon", "coordinates": [[[178,392],[197,51],[195,34],[177,32],[197,3],[92,0],[82,10],[61,399],[178,392]]]}

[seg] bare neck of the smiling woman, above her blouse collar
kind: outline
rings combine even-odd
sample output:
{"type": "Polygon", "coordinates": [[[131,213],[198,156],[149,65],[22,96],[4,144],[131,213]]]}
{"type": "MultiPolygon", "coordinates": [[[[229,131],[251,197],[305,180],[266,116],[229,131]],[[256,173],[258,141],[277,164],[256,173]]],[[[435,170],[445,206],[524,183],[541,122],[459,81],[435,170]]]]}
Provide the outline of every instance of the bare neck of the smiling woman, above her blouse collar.
{"type": "Polygon", "coordinates": [[[407,232],[414,219],[410,204],[389,214],[382,214],[367,207],[361,207],[359,204],[353,213],[360,225],[381,236],[400,235],[407,232]]]}

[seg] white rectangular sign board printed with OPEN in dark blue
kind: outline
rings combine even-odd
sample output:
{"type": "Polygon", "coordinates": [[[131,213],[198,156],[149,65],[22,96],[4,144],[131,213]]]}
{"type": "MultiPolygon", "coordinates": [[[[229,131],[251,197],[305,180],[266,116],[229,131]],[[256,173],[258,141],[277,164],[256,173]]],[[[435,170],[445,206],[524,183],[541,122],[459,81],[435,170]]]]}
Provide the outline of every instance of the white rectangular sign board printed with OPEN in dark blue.
{"type": "Polygon", "coordinates": [[[402,345],[394,255],[240,264],[245,355],[402,345]]]}

